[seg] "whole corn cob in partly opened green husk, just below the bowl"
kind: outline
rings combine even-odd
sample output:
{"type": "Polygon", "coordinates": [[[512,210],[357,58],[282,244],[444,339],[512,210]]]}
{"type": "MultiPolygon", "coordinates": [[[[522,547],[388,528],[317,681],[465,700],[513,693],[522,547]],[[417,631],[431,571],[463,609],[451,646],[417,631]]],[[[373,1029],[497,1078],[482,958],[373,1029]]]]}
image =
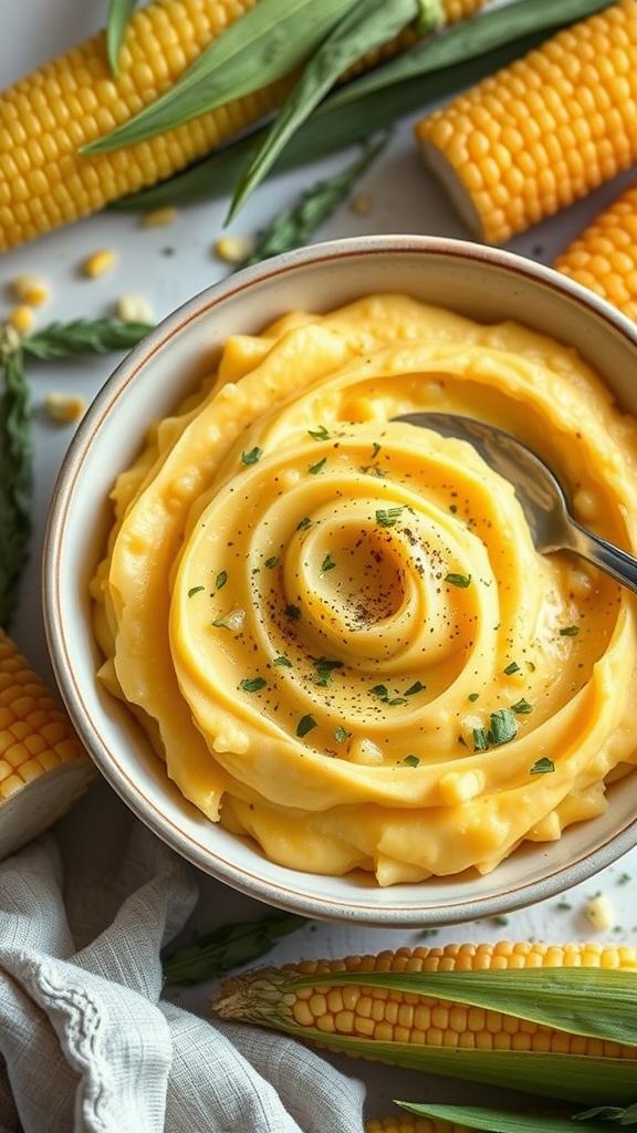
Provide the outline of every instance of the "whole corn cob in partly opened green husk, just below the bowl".
{"type": "Polygon", "coordinates": [[[501,942],[308,961],[221,983],[213,1011],[329,1050],[579,1104],[637,1084],[637,948],[501,942]]]}

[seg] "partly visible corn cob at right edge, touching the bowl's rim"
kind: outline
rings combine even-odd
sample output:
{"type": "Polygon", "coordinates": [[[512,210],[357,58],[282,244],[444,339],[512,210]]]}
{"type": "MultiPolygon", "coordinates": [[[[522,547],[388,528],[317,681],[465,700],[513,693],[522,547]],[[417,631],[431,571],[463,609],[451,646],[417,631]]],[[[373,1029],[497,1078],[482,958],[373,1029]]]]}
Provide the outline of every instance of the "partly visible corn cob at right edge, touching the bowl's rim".
{"type": "Polygon", "coordinates": [[[571,240],[553,267],[637,320],[637,185],[571,240]]]}

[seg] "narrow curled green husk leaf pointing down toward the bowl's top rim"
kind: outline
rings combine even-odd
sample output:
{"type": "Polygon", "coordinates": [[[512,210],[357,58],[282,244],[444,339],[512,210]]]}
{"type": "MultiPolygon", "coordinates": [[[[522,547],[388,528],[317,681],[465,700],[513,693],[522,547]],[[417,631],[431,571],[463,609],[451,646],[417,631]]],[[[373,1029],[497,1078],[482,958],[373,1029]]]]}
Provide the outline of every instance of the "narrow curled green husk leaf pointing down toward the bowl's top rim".
{"type": "Polygon", "coordinates": [[[418,14],[418,0],[355,0],[306,63],[303,74],[235,190],[228,220],[236,215],[250,193],[272,168],[291,135],[351,63],[367,51],[387,43],[418,14]]]}

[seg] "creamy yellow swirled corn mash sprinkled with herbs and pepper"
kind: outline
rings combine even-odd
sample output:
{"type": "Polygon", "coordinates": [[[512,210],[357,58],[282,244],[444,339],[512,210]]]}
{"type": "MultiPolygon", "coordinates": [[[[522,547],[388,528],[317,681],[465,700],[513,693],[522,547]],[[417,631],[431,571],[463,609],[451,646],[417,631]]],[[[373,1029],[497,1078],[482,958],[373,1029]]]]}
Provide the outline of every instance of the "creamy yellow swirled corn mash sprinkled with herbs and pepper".
{"type": "Polygon", "coordinates": [[[108,687],[272,860],[493,869],[637,761],[637,602],[538,554],[511,486],[408,411],[513,431],[637,550],[637,423],[578,355],[400,295],[231,338],[113,489],[108,687]]]}

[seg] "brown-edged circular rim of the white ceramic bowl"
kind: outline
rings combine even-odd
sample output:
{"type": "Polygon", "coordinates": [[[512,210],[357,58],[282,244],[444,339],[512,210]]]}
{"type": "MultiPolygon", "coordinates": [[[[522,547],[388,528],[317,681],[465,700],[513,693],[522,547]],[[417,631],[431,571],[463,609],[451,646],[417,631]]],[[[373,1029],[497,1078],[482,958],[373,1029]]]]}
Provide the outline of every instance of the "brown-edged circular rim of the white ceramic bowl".
{"type": "MultiPolygon", "coordinates": [[[[373,901],[368,903],[365,901],[365,896],[370,897],[371,892],[374,891],[366,891],[365,888],[360,889],[360,903],[355,908],[346,908],[345,902],[339,900],[329,900],[323,896],[307,897],[294,884],[294,879],[298,876],[295,870],[284,871],[289,875],[290,885],[279,887],[267,878],[254,875],[245,876],[245,871],[232,863],[221,861],[221,864],[216,864],[216,862],[211,862],[206,857],[209,851],[203,846],[197,847],[192,838],[176,827],[161,811],[158,810],[155,813],[153,810],[153,816],[148,816],[147,802],[144,802],[139,798],[134,784],[122,783],[120,774],[110,764],[104,764],[103,759],[97,758],[95,741],[97,741],[97,748],[100,748],[99,727],[91,723],[86,716],[80,690],[75,679],[70,676],[69,657],[63,644],[63,637],[57,630],[57,611],[59,610],[60,599],[59,577],[56,564],[60,560],[59,550],[63,538],[65,517],[70,503],[70,486],[77,475],[78,468],[83,463],[85,452],[91,444],[91,438],[95,429],[108,412],[116,391],[131,382],[136,373],[143,366],[146,366],[154,355],[169,343],[176,334],[184,332],[190,322],[204,316],[211,308],[228,301],[241,291],[252,289],[255,284],[266,283],[270,279],[295,272],[299,267],[309,269],[351,256],[400,256],[404,254],[438,254],[445,257],[455,257],[459,262],[468,258],[474,263],[482,262],[489,266],[495,265],[515,275],[537,281],[557,293],[566,293],[577,304],[581,305],[587,313],[594,310],[603,322],[620,332],[630,342],[637,353],[637,326],[621,312],[581,284],[570,280],[568,276],[561,275],[554,269],[530,258],[527,259],[525,256],[504,248],[493,248],[470,240],[460,240],[451,237],[384,235],[322,241],[305,248],[287,252],[227,275],[197,295],[194,295],[161,320],[112,369],[78,424],[76,433],[62,459],[46,516],[42,551],[44,632],[53,674],[61,698],[103,777],[136,817],[194,866],[249,897],[265,901],[291,912],[303,912],[316,919],[330,921],[350,920],[360,925],[384,928],[408,927],[413,925],[432,925],[438,927],[460,923],[486,915],[510,912],[515,909],[546,900],[547,897],[553,897],[564,889],[593,877],[600,870],[612,864],[629,850],[634,849],[637,845],[637,817],[625,826],[622,830],[611,835],[597,849],[584,854],[579,860],[569,862],[563,867],[558,866],[552,872],[545,874],[536,880],[524,883],[517,887],[513,886],[512,891],[511,886],[509,886],[499,895],[491,894],[485,897],[476,896],[466,901],[460,900],[455,905],[444,910],[435,906],[433,902],[431,906],[428,904],[414,906],[409,902],[405,906],[400,903],[394,903],[391,908],[374,908],[373,901]]],[[[370,292],[372,290],[371,288],[370,292]]],[[[146,420],[146,425],[148,420],[146,420]]],[[[443,878],[442,881],[444,883],[444,880],[443,878]]]]}

